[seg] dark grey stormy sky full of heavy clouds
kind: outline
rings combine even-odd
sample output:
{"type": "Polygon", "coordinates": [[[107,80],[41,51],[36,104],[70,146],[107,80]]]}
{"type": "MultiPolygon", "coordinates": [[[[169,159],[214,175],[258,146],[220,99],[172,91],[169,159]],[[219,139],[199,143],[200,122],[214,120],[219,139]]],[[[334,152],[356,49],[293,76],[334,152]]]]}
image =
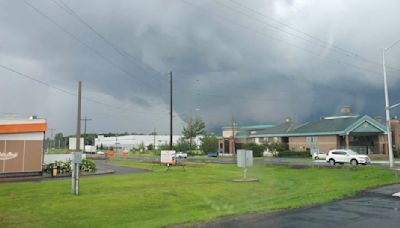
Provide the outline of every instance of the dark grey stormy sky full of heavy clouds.
{"type": "MultiPolygon", "coordinates": [[[[343,105],[384,116],[381,50],[400,39],[399,9],[398,0],[0,0],[0,113],[73,133],[82,80],[89,132],[167,133],[172,71],[177,134],[195,115],[213,131],[232,118],[313,121],[343,105]]],[[[395,104],[400,44],[386,57],[395,104]]]]}

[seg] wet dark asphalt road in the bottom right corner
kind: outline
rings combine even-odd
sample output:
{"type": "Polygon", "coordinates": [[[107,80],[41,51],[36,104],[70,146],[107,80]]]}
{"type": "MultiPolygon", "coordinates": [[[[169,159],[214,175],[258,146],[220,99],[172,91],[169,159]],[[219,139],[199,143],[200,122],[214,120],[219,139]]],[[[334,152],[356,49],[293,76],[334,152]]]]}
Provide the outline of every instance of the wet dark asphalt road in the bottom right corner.
{"type": "Polygon", "coordinates": [[[197,227],[400,227],[400,184],[306,209],[224,218],[197,227]]]}

